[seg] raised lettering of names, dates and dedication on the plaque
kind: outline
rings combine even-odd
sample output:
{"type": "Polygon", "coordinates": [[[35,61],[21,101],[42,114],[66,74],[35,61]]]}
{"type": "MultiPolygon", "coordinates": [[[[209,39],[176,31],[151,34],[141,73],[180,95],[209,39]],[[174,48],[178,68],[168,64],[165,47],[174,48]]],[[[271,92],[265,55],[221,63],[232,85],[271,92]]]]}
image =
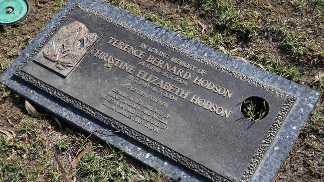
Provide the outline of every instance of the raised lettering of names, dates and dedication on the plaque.
{"type": "Polygon", "coordinates": [[[181,100],[187,100],[194,106],[214,113],[217,116],[226,119],[230,117],[232,111],[229,109],[222,107],[216,101],[199,96],[199,93],[191,95],[186,89],[189,85],[198,86],[208,92],[221,96],[218,99],[230,99],[234,95],[234,92],[230,89],[219,86],[214,81],[204,79],[202,76],[207,73],[205,70],[144,43],[140,44],[139,48],[137,48],[136,45],[110,37],[107,45],[114,48],[107,47],[106,50],[113,52],[122,51],[133,55],[137,59],[122,60],[113,56],[115,54],[107,53],[99,48],[92,48],[90,54],[106,62],[105,66],[109,69],[114,67],[130,74],[126,77],[126,80],[130,81],[125,86],[126,91],[135,93],[135,95],[142,96],[142,98],[147,100],[138,100],[138,103],[141,103],[139,105],[136,103],[136,100],[130,101],[127,99],[126,97],[130,95],[126,94],[126,92],[113,91],[102,97],[105,100],[104,105],[109,109],[132,119],[138,124],[146,125],[145,127],[153,132],[159,132],[162,129],[157,129],[157,127],[160,127],[158,123],[162,123],[165,130],[169,116],[163,115],[161,109],[150,106],[149,102],[165,108],[170,104],[168,102],[171,101],[171,103],[177,104],[178,98],[182,98],[181,100]],[[134,63],[141,68],[136,68],[137,66],[134,66],[134,63]],[[166,99],[161,99],[161,96],[166,99]],[[139,109],[142,109],[143,105],[146,110],[137,112],[139,109]],[[125,107],[127,107],[127,110],[125,110],[125,107]],[[121,111],[120,109],[124,110],[121,111]]]}

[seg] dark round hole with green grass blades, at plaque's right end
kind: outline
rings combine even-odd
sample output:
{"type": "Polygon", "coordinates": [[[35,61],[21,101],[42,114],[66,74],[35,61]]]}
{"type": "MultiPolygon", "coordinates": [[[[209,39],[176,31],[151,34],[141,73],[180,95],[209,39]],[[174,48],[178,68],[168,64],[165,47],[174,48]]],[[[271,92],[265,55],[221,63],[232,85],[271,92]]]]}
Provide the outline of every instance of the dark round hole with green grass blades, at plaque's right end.
{"type": "Polygon", "coordinates": [[[243,98],[241,112],[246,119],[259,121],[268,115],[269,104],[265,99],[258,96],[243,98]]]}

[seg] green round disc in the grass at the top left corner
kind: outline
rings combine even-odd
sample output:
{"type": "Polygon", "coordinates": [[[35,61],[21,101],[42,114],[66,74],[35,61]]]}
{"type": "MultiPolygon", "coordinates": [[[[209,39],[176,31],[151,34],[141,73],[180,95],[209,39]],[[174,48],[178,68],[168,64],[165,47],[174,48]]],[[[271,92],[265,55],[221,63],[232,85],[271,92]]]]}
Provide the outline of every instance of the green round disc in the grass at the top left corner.
{"type": "Polygon", "coordinates": [[[28,11],[27,0],[0,0],[0,24],[15,24],[23,20],[28,11]]]}

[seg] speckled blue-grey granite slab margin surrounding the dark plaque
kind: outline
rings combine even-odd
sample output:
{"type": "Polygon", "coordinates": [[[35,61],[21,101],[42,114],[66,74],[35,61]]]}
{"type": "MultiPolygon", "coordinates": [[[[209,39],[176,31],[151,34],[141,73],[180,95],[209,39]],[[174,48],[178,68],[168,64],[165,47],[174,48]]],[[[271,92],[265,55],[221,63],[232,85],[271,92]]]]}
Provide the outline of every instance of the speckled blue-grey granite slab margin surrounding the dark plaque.
{"type": "MultiPolygon", "coordinates": [[[[60,20],[60,18],[76,2],[79,2],[83,6],[95,9],[106,16],[126,23],[154,37],[158,37],[194,54],[215,61],[220,65],[229,67],[253,79],[259,80],[267,85],[271,85],[274,88],[296,96],[297,100],[295,105],[286,117],[286,120],[280,127],[280,130],[277,132],[275,138],[268,148],[268,151],[266,152],[263,160],[260,162],[259,167],[251,179],[251,182],[273,181],[282,162],[297,139],[300,130],[314,109],[315,104],[319,100],[321,96],[320,93],[283,79],[253,65],[246,64],[226,54],[217,52],[208,46],[200,44],[192,39],[188,39],[173,31],[161,28],[150,21],[134,16],[129,12],[123,11],[118,7],[100,0],[69,0],[67,5],[54,16],[47,26],[22,52],[22,54],[18,56],[13,64],[10,65],[10,67],[0,76],[1,83],[8,86],[11,90],[20,93],[28,100],[37,103],[41,107],[45,108],[48,112],[59,116],[61,119],[81,130],[91,132],[94,129],[109,129],[109,127],[102,122],[93,119],[78,109],[72,108],[67,103],[56,99],[44,91],[40,91],[26,82],[20,81],[12,75],[13,71],[23,61],[24,57],[32,52],[33,48],[44,39],[55,23],[60,20]]],[[[125,153],[130,157],[133,157],[152,168],[161,170],[162,173],[165,173],[172,179],[179,180],[179,176],[181,175],[183,177],[182,182],[210,181],[123,134],[103,130],[101,132],[97,132],[95,135],[99,139],[125,151],[125,153]]]]}

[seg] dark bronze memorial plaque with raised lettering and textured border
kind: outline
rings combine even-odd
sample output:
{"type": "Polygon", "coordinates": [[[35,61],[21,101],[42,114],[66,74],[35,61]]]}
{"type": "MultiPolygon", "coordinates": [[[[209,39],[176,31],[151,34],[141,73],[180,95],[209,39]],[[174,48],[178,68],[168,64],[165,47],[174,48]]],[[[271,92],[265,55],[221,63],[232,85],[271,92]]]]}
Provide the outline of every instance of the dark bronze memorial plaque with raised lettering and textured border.
{"type": "Polygon", "coordinates": [[[295,97],[81,5],[14,73],[212,181],[248,181],[295,97]],[[258,121],[244,98],[262,98],[258,121]]]}

